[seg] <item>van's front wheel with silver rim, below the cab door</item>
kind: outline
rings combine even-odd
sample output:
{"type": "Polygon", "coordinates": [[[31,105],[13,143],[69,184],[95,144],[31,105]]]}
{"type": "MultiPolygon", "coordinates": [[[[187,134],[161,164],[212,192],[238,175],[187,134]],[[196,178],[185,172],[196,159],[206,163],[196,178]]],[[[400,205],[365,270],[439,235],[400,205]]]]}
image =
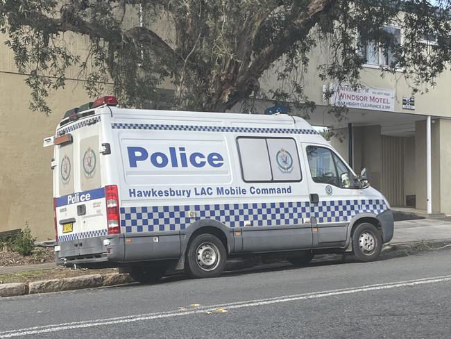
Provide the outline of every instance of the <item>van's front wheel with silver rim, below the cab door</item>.
{"type": "Polygon", "coordinates": [[[359,261],[373,261],[382,250],[382,235],[373,224],[363,222],[352,233],[352,251],[359,261]]]}

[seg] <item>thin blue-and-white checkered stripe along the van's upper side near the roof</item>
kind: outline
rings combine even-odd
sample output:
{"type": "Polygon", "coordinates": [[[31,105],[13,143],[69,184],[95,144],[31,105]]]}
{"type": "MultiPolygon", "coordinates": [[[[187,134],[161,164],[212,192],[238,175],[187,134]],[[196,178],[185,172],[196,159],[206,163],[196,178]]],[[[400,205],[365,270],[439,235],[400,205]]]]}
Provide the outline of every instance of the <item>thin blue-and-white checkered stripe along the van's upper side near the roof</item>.
{"type": "Polygon", "coordinates": [[[164,131],[199,131],[199,132],[239,132],[239,133],[291,133],[318,134],[314,129],[270,129],[264,127],[231,127],[231,126],[192,126],[169,124],[111,124],[113,129],[143,129],[164,131]]]}

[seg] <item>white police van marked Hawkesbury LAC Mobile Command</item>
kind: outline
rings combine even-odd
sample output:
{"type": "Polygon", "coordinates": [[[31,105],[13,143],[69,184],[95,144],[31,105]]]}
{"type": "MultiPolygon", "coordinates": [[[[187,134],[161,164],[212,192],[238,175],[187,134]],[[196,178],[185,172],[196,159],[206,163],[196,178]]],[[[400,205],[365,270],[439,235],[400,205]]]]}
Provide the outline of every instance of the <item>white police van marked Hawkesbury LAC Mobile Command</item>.
{"type": "Polygon", "coordinates": [[[365,171],[300,117],[124,109],[103,97],[69,110],[44,146],[54,146],[60,265],[199,278],[232,256],[371,261],[393,236],[365,171]]]}

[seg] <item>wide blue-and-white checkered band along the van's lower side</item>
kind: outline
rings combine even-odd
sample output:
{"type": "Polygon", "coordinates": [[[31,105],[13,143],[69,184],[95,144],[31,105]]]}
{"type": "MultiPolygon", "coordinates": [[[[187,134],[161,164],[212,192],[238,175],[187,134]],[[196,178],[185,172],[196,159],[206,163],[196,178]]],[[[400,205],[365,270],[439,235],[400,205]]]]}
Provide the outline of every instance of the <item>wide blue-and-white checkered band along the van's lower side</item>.
{"type": "Polygon", "coordinates": [[[279,226],[303,223],[306,217],[316,217],[319,224],[347,222],[358,213],[379,214],[388,209],[383,200],[321,201],[310,207],[305,202],[262,204],[214,204],[192,206],[122,207],[122,233],[179,231],[196,220],[212,219],[230,228],[244,226],[279,226]],[[189,217],[195,211],[195,217],[189,217]]]}

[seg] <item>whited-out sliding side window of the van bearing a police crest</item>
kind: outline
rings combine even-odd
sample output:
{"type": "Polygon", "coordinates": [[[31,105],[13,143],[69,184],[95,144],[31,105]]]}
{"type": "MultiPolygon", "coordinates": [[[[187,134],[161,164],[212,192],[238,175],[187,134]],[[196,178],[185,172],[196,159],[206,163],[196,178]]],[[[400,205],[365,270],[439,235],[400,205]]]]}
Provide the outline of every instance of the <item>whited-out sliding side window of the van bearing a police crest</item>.
{"type": "Polygon", "coordinates": [[[292,138],[237,138],[246,182],[301,181],[296,141],[292,138]]]}

